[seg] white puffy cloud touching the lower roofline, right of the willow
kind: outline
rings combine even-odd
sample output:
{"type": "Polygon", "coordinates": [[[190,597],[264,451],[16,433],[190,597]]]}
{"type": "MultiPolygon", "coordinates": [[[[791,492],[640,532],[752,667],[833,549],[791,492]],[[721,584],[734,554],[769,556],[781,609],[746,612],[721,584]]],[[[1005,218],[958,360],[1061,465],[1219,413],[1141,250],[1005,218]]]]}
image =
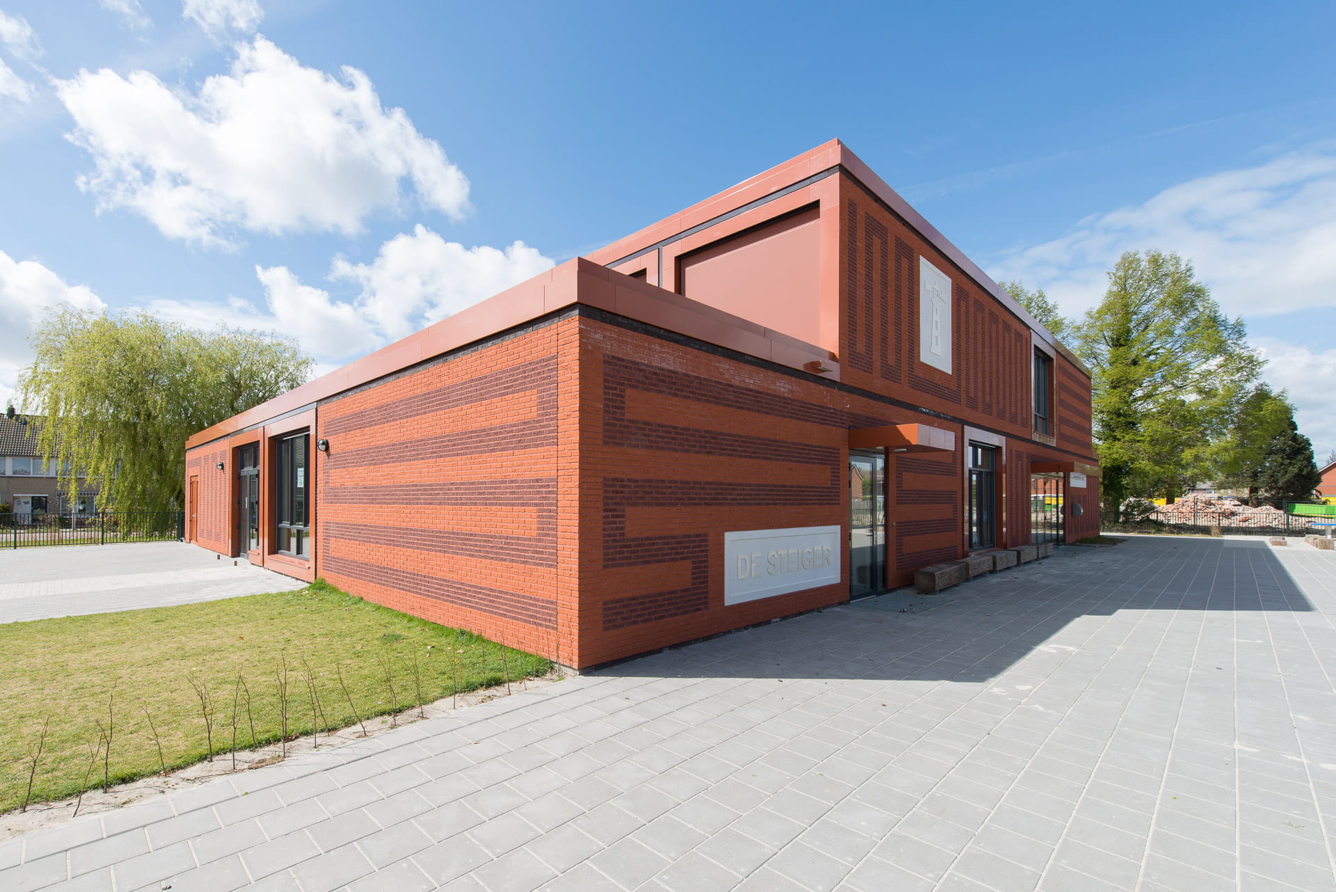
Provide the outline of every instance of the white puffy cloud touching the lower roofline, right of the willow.
{"type": "Polygon", "coordinates": [[[524,242],[466,248],[418,224],[381,246],[371,263],[337,258],[330,279],[362,287],[361,312],[390,339],[438,322],[552,266],[524,242]]]}

